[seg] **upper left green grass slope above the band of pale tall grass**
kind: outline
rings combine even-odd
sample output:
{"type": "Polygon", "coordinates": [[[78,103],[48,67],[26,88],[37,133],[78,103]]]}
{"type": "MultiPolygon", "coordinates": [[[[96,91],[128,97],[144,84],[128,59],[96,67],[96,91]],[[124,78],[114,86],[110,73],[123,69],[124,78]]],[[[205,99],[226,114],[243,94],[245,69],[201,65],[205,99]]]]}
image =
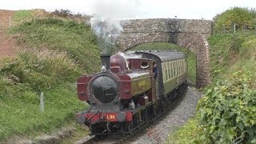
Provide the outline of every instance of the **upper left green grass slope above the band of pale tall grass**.
{"type": "Polygon", "coordinates": [[[27,47],[66,51],[90,74],[100,67],[99,49],[90,26],[70,20],[34,19],[11,30],[27,47]]]}

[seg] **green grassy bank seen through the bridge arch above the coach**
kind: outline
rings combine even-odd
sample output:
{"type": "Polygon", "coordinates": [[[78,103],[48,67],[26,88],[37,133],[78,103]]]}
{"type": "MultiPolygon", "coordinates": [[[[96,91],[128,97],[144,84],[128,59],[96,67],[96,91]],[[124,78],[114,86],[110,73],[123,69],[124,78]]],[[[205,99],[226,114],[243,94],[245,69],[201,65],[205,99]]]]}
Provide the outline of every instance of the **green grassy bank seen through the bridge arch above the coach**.
{"type": "Polygon", "coordinates": [[[196,82],[196,54],[182,48],[181,46],[168,43],[168,42],[148,42],[142,45],[135,46],[130,50],[178,50],[186,54],[186,60],[188,64],[188,79],[192,82],[196,82]]]}

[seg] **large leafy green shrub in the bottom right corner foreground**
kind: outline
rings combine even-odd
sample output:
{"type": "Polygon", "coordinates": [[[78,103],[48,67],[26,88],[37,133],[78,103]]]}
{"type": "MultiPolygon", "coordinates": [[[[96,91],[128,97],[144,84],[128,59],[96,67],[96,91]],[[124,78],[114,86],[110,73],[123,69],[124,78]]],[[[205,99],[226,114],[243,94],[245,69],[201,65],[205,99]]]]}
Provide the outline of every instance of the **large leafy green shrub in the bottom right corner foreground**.
{"type": "Polygon", "coordinates": [[[195,142],[256,142],[256,90],[250,75],[238,71],[219,80],[198,104],[195,142]]]}

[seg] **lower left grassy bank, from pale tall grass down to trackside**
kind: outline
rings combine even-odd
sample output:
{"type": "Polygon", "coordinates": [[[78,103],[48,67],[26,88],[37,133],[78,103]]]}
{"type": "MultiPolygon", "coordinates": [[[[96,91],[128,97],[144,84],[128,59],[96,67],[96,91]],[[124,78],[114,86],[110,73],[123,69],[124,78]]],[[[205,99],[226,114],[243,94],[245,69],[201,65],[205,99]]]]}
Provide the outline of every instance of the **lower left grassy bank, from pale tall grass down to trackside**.
{"type": "Polygon", "coordinates": [[[53,50],[29,50],[7,59],[0,69],[0,139],[36,136],[73,121],[74,114],[86,108],[74,85],[81,74],[74,60],[53,50]]]}

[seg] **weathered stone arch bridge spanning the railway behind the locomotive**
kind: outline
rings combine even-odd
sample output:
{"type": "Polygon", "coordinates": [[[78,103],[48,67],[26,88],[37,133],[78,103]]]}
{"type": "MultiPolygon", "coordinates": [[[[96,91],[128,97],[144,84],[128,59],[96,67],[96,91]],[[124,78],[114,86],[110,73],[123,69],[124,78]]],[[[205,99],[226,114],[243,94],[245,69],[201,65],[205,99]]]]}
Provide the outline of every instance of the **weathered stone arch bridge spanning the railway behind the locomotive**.
{"type": "Polygon", "coordinates": [[[196,19],[154,18],[122,21],[123,32],[116,45],[121,51],[146,42],[170,42],[185,47],[197,55],[197,86],[210,82],[209,45],[212,21],[196,19]]]}

